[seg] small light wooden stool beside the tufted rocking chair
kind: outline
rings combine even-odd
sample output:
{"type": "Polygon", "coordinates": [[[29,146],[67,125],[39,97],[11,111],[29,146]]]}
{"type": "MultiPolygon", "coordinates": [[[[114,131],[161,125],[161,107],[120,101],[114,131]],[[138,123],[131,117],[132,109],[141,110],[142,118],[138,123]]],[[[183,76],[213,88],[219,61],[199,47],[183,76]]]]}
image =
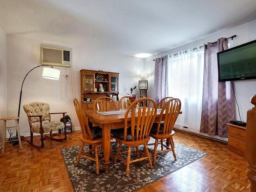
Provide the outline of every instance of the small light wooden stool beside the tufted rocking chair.
{"type": "Polygon", "coordinates": [[[3,117],[3,118],[0,119],[0,120],[4,121],[4,127],[3,127],[3,132],[2,132],[3,133],[2,153],[5,152],[5,143],[6,142],[11,142],[11,141],[18,141],[20,150],[22,150],[22,140],[20,139],[20,134],[19,134],[18,119],[19,119],[19,117],[3,117]],[[6,126],[6,121],[9,121],[9,120],[15,120],[16,126],[6,126]],[[17,130],[18,139],[8,141],[8,139],[5,138],[6,137],[6,130],[17,130]]]}

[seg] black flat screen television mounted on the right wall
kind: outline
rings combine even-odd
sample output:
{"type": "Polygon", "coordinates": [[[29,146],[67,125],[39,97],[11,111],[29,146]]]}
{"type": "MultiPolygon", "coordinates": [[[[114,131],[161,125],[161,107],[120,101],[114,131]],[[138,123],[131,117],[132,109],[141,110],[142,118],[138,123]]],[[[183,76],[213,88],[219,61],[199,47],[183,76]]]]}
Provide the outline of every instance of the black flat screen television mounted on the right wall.
{"type": "Polygon", "coordinates": [[[256,40],[217,53],[219,81],[256,79],[256,40]]]}

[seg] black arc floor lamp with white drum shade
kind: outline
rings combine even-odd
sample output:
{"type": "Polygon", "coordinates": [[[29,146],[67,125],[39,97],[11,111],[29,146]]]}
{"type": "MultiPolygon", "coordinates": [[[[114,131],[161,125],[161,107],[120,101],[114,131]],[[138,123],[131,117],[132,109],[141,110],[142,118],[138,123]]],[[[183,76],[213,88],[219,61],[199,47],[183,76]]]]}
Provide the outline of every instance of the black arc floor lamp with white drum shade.
{"type": "MultiPolygon", "coordinates": [[[[57,69],[54,69],[53,66],[50,66],[50,65],[39,65],[39,66],[36,66],[33,69],[31,69],[26,74],[26,76],[24,77],[24,79],[22,81],[22,87],[20,88],[19,102],[18,102],[18,117],[19,117],[19,114],[20,114],[20,104],[21,104],[21,101],[22,101],[22,88],[23,88],[23,85],[24,85],[24,81],[25,81],[26,77],[28,76],[28,74],[31,71],[33,71],[34,69],[39,68],[39,67],[43,67],[43,69],[42,69],[42,77],[43,78],[52,79],[52,80],[59,80],[60,71],[57,70],[57,69]]],[[[16,132],[16,136],[17,136],[17,132],[16,132]]]]}

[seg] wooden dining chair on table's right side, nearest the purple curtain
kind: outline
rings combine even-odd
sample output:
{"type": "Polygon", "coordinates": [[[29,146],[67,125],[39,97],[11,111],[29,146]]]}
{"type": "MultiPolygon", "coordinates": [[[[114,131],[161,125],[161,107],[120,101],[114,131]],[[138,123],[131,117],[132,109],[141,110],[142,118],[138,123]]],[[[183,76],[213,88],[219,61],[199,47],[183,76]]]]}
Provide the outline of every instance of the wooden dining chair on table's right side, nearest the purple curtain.
{"type": "Polygon", "coordinates": [[[168,100],[161,110],[160,121],[158,123],[154,123],[152,126],[150,136],[153,137],[156,141],[155,143],[147,145],[155,145],[154,152],[150,150],[150,152],[153,153],[153,164],[155,164],[156,162],[157,153],[167,153],[169,151],[172,151],[174,159],[177,160],[174,150],[173,135],[175,134],[175,131],[173,131],[173,127],[180,113],[180,109],[180,99],[173,98],[168,100]],[[164,123],[161,123],[162,120],[164,121],[164,123]],[[163,144],[164,139],[168,140],[171,147],[163,144]],[[160,143],[158,142],[159,140],[160,143]],[[158,144],[161,144],[161,151],[157,151],[158,144]],[[166,150],[163,150],[163,147],[165,147],[166,150]]]}

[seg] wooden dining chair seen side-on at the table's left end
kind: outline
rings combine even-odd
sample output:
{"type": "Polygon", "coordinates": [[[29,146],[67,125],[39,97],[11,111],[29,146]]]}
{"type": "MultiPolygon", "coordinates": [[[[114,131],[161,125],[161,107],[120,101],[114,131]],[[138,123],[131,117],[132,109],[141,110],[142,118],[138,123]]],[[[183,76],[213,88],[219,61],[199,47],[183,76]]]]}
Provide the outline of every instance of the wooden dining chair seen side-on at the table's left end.
{"type": "MultiPolygon", "coordinates": [[[[98,126],[90,127],[88,124],[88,118],[82,110],[80,102],[75,98],[74,105],[76,115],[78,117],[82,134],[80,136],[81,146],[76,159],[75,165],[77,166],[81,157],[96,162],[96,174],[99,174],[99,162],[103,161],[103,158],[99,160],[99,145],[102,144],[102,129],[98,126]],[[83,153],[84,145],[89,145],[89,150],[83,153]],[[92,147],[91,147],[92,146],[92,147]],[[94,157],[88,156],[88,154],[94,153],[94,157]]],[[[112,153],[111,153],[112,154],[112,153]]],[[[113,157],[112,157],[113,158],[113,157]]]]}

